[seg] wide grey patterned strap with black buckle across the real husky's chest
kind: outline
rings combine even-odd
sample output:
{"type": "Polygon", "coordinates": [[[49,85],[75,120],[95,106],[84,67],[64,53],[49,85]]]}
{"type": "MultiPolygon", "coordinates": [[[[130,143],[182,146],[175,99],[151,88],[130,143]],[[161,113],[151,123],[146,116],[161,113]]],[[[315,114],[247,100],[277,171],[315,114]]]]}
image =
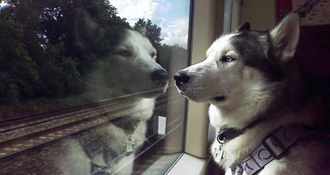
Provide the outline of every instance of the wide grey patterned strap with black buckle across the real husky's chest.
{"type": "Polygon", "coordinates": [[[304,127],[288,125],[277,129],[262,140],[262,143],[243,159],[240,165],[231,168],[232,175],[254,175],[274,159],[280,159],[285,151],[302,135],[304,127]]]}

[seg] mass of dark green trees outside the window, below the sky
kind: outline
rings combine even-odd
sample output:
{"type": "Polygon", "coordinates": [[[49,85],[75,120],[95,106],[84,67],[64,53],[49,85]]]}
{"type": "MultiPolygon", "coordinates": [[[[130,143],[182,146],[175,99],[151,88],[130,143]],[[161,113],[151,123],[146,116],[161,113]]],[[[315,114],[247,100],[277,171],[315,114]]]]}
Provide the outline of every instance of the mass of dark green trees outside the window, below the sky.
{"type": "MultiPolygon", "coordinates": [[[[110,55],[123,29],[131,28],[108,0],[3,1],[0,105],[81,93],[84,75],[110,55]]],[[[144,30],[168,70],[170,48],[177,46],[162,45],[161,28],[150,20],[139,19],[133,29],[144,30]]]]}

